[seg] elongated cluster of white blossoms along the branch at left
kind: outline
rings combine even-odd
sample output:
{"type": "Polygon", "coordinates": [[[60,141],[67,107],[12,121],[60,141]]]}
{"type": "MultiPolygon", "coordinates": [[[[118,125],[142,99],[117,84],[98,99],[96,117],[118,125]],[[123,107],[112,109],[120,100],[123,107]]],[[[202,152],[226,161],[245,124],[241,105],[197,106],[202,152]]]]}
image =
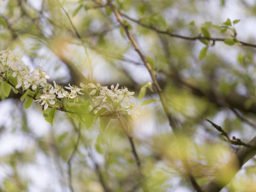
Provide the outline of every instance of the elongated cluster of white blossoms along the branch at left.
{"type": "Polygon", "coordinates": [[[106,108],[110,114],[118,115],[138,115],[138,105],[130,99],[134,99],[134,92],[124,87],[120,88],[119,84],[112,85],[110,90],[107,86],[101,86],[99,83],[83,84],[81,88],[77,86],[61,86],[53,81],[53,85],[47,82],[50,79],[44,70],[36,68],[30,72],[29,67],[24,65],[21,60],[22,56],[17,52],[10,50],[0,51],[0,75],[2,80],[8,81],[10,78],[17,79],[16,89],[23,91],[31,89],[35,92],[36,102],[44,106],[44,110],[49,106],[52,108],[65,108],[65,104],[72,100],[76,104],[80,95],[87,95],[91,99],[90,109],[97,113],[100,109],[106,108]]]}

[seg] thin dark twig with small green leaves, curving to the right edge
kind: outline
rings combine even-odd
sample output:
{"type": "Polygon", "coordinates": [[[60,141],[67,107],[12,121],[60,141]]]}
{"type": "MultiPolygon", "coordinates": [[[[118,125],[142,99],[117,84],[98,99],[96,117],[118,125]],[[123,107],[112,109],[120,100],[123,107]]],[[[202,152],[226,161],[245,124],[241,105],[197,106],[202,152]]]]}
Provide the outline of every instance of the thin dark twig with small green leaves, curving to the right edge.
{"type": "MultiPolygon", "coordinates": [[[[234,40],[233,38],[214,38],[214,37],[205,37],[205,36],[183,36],[183,35],[177,35],[177,34],[174,34],[174,33],[170,33],[170,31],[168,30],[160,30],[160,29],[157,29],[156,27],[154,26],[148,26],[146,24],[143,24],[141,22],[141,20],[137,20],[137,19],[133,19],[131,17],[129,17],[128,15],[125,15],[125,13],[120,13],[122,16],[124,16],[125,18],[131,20],[132,22],[136,22],[136,24],[139,24],[140,26],[144,27],[144,28],[147,28],[147,29],[151,29],[153,31],[156,31],[157,33],[160,33],[160,34],[163,34],[163,35],[168,35],[168,36],[172,36],[172,37],[175,37],[175,38],[181,38],[181,39],[184,39],[184,40],[211,40],[212,42],[224,42],[225,40],[234,40]]],[[[256,44],[250,44],[250,43],[247,43],[247,42],[239,42],[239,44],[243,45],[243,46],[248,46],[248,47],[254,47],[256,48],[256,44]]]]}

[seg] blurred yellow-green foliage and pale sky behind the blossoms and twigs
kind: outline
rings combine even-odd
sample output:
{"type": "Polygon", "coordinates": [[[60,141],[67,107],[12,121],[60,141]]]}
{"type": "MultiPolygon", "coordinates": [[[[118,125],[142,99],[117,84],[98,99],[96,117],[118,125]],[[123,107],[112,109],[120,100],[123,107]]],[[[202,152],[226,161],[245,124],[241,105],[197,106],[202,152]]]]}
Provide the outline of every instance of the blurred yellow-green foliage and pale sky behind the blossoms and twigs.
{"type": "MultiPolygon", "coordinates": [[[[237,38],[256,40],[250,33],[255,31],[254,1],[116,0],[113,4],[147,26],[184,36],[198,36],[207,26],[211,36],[229,38],[232,31],[220,33],[222,23],[228,17],[241,19],[237,38]],[[193,20],[195,25],[189,25],[193,20]]],[[[0,13],[1,49],[20,52],[26,65],[43,68],[57,83],[120,83],[138,96],[151,81],[108,6],[89,0],[1,0],[0,13]]],[[[193,175],[204,186],[241,148],[225,141],[205,118],[221,125],[230,138],[248,142],[255,136],[255,48],[206,42],[208,51],[200,61],[205,42],[172,38],[124,19],[156,67],[168,108],[184,133],[173,137],[159,102],[141,106],[131,127],[148,188],[191,191],[182,156],[188,157],[193,175]],[[178,150],[177,142],[186,153],[178,150]]],[[[72,159],[73,190],[141,191],[131,147],[117,121],[111,121],[104,132],[98,124],[87,130],[58,111],[51,127],[44,122],[40,105],[25,110],[19,97],[13,93],[0,102],[0,191],[70,191],[67,162],[80,128],[81,140],[72,159]]],[[[158,97],[147,89],[138,103],[145,99],[158,97]]],[[[255,173],[253,158],[223,191],[255,191],[255,173]]]]}

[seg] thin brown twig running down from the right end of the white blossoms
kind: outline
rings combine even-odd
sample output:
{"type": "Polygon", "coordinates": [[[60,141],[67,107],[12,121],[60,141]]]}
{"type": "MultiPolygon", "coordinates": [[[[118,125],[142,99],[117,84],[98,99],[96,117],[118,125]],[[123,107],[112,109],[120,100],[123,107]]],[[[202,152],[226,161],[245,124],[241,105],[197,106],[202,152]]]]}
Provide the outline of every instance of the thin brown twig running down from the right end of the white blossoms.
{"type": "Polygon", "coordinates": [[[136,151],[132,136],[127,131],[128,129],[127,129],[125,123],[124,123],[124,120],[122,120],[122,118],[120,116],[118,117],[118,120],[119,120],[120,124],[122,125],[122,128],[124,129],[125,135],[127,136],[128,140],[129,140],[129,143],[131,145],[132,154],[134,156],[134,159],[136,161],[136,164],[138,166],[138,170],[139,170],[139,173],[140,173],[140,182],[141,182],[142,189],[143,189],[144,192],[147,192],[148,187],[147,187],[147,184],[146,184],[146,181],[145,181],[145,177],[143,175],[143,170],[142,170],[142,166],[141,166],[140,157],[138,156],[138,153],[136,151]]]}

